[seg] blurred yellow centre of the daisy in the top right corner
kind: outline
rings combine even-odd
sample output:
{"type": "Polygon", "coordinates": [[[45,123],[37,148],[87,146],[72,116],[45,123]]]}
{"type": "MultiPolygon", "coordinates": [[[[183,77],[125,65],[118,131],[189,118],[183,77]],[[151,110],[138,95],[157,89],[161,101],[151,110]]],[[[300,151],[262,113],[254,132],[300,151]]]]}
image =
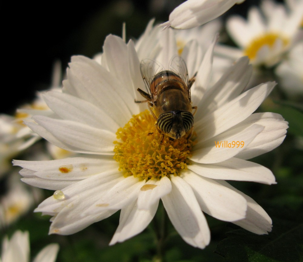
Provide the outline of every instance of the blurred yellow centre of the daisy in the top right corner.
{"type": "Polygon", "coordinates": [[[254,59],[261,47],[268,45],[270,48],[272,48],[278,39],[282,41],[283,47],[287,46],[289,43],[288,38],[282,37],[276,33],[268,33],[251,41],[251,43],[245,49],[244,55],[247,55],[249,59],[254,59]]]}

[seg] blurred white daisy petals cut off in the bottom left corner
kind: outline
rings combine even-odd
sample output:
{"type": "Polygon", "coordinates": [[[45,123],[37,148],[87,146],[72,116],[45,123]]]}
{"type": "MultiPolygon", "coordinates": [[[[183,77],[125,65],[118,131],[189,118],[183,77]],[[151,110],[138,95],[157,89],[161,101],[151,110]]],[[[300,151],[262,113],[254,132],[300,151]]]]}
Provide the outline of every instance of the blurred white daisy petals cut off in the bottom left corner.
{"type": "MultiPolygon", "coordinates": [[[[33,262],[54,262],[59,251],[58,244],[49,244],[44,247],[35,257],[33,262]]],[[[28,262],[29,260],[29,234],[27,231],[16,231],[10,240],[5,237],[2,243],[2,262],[28,262]]]]}

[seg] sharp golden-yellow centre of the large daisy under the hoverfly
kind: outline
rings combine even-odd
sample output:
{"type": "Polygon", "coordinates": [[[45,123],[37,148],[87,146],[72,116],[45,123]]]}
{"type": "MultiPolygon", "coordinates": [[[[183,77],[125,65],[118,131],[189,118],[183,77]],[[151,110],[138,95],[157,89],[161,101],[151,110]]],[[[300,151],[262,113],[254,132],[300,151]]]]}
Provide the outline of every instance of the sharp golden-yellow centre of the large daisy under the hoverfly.
{"type": "Polygon", "coordinates": [[[116,134],[114,159],[119,162],[119,170],[125,177],[159,179],[178,175],[181,169],[187,168],[193,142],[184,137],[163,138],[148,110],[133,116],[116,134]]]}

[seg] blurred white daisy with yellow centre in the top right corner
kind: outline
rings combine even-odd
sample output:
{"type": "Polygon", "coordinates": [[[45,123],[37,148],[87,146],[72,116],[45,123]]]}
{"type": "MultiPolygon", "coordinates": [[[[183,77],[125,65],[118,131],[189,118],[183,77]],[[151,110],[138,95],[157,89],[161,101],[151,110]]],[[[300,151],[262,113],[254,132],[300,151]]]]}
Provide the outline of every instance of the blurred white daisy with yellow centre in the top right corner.
{"type": "Polygon", "coordinates": [[[303,1],[298,0],[295,8],[291,1],[285,2],[264,0],[260,9],[248,11],[247,21],[240,16],[229,18],[226,28],[239,49],[220,46],[216,52],[232,58],[247,55],[255,65],[277,64],[292,46],[302,42],[303,1]]]}

